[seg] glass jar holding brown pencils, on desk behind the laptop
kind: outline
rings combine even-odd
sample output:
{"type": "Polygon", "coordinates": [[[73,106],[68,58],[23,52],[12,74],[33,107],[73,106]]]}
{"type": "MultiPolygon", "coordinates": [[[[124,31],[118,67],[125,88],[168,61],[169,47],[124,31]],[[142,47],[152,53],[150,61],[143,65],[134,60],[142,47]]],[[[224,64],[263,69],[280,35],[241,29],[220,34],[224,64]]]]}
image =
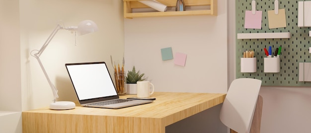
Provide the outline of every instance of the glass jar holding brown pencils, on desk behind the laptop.
{"type": "Polygon", "coordinates": [[[114,79],[116,84],[116,90],[119,95],[124,95],[126,93],[126,79],[125,79],[125,73],[114,73],[114,79]]]}

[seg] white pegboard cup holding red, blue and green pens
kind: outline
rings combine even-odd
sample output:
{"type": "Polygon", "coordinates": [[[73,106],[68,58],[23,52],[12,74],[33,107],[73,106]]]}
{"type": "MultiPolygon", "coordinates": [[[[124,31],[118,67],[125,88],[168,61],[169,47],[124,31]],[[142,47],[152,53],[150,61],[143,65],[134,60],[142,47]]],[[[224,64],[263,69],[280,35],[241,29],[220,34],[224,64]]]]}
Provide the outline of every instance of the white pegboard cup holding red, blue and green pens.
{"type": "Polygon", "coordinates": [[[280,72],[280,58],[264,58],[263,59],[264,73],[280,72]]]}

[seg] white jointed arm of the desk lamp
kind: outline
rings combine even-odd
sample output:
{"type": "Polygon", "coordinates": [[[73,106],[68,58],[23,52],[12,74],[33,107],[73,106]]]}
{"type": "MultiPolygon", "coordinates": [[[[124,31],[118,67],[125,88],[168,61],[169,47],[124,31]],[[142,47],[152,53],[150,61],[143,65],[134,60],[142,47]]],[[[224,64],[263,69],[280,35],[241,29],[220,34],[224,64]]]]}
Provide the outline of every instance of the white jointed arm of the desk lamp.
{"type": "MultiPolygon", "coordinates": [[[[43,67],[43,64],[40,60],[40,55],[42,54],[42,52],[45,50],[45,48],[50,44],[51,40],[54,38],[54,36],[56,35],[56,33],[60,30],[60,29],[64,29],[61,25],[57,25],[56,28],[54,29],[54,31],[51,33],[51,35],[49,36],[49,38],[45,41],[45,43],[42,45],[42,47],[40,48],[40,50],[36,50],[37,53],[34,53],[32,56],[35,57],[44,73],[44,76],[45,78],[47,79],[51,89],[52,89],[52,92],[53,92],[53,95],[54,95],[54,101],[56,101],[56,98],[58,98],[58,90],[55,88],[55,86],[53,85],[53,83],[51,82],[48,74],[46,73],[45,71],[45,68],[43,67]]],[[[35,51],[35,50],[32,50],[32,51],[35,51]]]]}

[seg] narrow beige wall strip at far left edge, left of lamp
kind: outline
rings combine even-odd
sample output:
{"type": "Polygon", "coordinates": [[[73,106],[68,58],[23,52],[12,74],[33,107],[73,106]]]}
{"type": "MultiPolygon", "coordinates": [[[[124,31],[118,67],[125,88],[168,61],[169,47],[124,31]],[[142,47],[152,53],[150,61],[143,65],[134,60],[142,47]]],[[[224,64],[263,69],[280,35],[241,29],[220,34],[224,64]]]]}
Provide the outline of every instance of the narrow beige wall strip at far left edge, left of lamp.
{"type": "Polygon", "coordinates": [[[18,6],[18,0],[0,0],[0,111],[21,111],[18,6]]]}

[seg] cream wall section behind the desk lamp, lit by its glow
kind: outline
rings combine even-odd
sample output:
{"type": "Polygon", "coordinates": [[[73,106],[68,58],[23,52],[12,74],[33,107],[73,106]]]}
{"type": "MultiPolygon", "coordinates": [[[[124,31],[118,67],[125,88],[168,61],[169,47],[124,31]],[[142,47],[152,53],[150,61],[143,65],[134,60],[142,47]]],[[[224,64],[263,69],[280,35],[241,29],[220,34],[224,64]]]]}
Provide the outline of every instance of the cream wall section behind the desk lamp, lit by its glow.
{"type": "MultiPolygon", "coordinates": [[[[124,25],[122,0],[20,0],[21,69],[23,110],[46,107],[52,91],[37,60],[30,51],[39,49],[52,33],[58,20],[65,27],[93,20],[98,32],[77,37],[59,31],[41,55],[42,63],[57,89],[59,100],[77,101],[65,63],[106,61],[110,55],[122,59],[124,25]]],[[[111,65],[108,65],[112,72],[111,65]]]]}

